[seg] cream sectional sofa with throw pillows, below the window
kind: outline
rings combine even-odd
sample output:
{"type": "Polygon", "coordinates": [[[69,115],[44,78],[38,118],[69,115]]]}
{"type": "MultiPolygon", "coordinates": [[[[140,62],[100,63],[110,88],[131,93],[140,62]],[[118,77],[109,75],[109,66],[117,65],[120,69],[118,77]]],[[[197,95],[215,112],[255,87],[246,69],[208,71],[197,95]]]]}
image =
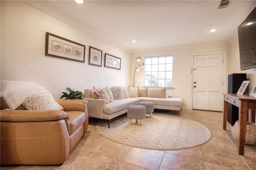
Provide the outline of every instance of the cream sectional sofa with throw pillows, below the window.
{"type": "Polygon", "coordinates": [[[111,119],[127,113],[129,105],[137,105],[140,101],[153,102],[154,109],[178,111],[179,116],[183,104],[181,98],[166,98],[166,88],[105,87],[104,91],[95,87],[85,89],[83,98],[88,100],[89,117],[108,120],[108,127],[111,119]]]}

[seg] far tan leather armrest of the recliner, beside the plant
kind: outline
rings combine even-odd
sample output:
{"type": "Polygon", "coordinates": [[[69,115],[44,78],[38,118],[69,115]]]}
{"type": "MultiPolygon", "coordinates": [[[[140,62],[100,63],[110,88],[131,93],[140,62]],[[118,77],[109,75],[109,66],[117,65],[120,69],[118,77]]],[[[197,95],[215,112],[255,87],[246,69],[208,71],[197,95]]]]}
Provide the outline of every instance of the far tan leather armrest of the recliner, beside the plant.
{"type": "Polygon", "coordinates": [[[56,100],[63,108],[64,111],[82,111],[86,112],[86,104],[88,103],[87,100],[56,100]]]}

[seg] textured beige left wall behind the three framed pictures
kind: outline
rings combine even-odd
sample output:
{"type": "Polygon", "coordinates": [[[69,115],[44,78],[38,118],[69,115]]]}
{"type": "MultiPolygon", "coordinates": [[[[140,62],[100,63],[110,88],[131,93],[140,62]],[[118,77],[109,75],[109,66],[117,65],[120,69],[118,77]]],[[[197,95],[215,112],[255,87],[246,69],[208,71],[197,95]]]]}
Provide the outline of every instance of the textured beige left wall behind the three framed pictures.
{"type": "MultiPolygon", "coordinates": [[[[1,2],[1,80],[32,81],[58,99],[66,87],[128,86],[131,51],[82,32],[24,2],[1,2]],[[46,32],[86,45],[85,63],[45,55],[46,32]],[[103,51],[102,65],[88,65],[89,46],[103,51]],[[104,53],[121,58],[121,70],[104,67],[104,53]]],[[[90,17],[90,16],[88,16],[90,17]]]]}

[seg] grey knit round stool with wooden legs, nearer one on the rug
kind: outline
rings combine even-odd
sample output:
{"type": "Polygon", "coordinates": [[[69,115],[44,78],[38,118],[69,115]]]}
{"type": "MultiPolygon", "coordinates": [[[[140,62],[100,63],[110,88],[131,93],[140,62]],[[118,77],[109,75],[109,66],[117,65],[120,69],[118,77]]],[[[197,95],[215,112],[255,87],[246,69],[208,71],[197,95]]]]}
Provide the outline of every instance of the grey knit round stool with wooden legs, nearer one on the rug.
{"type": "Polygon", "coordinates": [[[143,126],[143,119],[146,117],[146,107],[142,105],[130,105],[127,107],[127,117],[129,118],[128,125],[132,124],[132,119],[140,119],[140,125],[143,126]]]}

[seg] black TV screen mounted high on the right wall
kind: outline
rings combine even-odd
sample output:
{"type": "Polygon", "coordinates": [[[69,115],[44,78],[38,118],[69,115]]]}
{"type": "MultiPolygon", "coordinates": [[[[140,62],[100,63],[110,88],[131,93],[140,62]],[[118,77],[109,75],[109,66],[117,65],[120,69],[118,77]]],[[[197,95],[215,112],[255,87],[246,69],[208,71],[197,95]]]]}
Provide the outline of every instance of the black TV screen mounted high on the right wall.
{"type": "Polygon", "coordinates": [[[238,26],[241,70],[256,68],[256,8],[238,26]]]}

